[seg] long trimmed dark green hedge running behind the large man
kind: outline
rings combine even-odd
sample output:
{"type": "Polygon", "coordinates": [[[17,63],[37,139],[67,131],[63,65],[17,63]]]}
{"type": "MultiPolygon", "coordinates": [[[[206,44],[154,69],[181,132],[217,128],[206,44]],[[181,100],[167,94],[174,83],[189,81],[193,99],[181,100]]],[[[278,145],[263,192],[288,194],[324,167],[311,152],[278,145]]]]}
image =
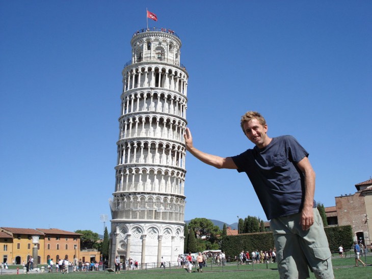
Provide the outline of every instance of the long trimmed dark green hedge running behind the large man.
{"type": "MultiPolygon", "coordinates": [[[[331,251],[337,251],[340,245],[346,249],[353,245],[351,226],[327,227],[325,232],[331,251]]],[[[274,237],[272,232],[225,236],[221,242],[221,249],[230,257],[239,255],[242,250],[252,252],[256,249],[265,251],[273,248],[274,237]]]]}

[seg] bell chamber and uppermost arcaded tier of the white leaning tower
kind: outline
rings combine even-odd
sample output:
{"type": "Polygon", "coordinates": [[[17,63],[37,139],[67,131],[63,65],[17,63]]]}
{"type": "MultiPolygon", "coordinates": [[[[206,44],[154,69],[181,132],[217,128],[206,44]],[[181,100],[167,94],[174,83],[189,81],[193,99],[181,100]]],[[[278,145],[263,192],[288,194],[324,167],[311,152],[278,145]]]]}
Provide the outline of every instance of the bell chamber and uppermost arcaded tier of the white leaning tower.
{"type": "Polygon", "coordinates": [[[142,29],[130,41],[132,59],[124,65],[123,92],[164,88],[187,96],[188,72],[180,64],[181,41],[171,30],[142,29]]]}

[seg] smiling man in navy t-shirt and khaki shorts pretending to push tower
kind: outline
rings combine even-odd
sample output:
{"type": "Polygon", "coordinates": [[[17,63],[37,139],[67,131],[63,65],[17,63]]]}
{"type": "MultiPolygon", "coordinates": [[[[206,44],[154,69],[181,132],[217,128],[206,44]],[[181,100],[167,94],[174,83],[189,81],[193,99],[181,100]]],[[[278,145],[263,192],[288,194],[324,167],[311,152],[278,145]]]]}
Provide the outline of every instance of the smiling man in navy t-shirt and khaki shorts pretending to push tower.
{"type": "Polygon", "coordinates": [[[223,158],[196,149],[189,128],[184,134],[186,148],[206,164],[248,175],[271,220],[281,278],[308,278],[308,265],[316,278],[334,278],[327,236],[314,203],[315,173],[309,154],[293,136],[269,137],[265,119],[255,111],[242,117],[241,127],[255,147],[240,155],[223,158]]]}

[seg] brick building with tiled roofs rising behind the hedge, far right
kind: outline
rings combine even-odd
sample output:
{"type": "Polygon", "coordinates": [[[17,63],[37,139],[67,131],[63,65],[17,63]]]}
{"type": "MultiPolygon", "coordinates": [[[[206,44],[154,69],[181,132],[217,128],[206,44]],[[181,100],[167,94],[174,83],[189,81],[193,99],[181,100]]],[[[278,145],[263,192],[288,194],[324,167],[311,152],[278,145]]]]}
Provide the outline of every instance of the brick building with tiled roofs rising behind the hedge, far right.
{"type": "Polygon", "coordinates": [[[357,192],[335,197],[336,206],[326,207],[329,226],[350,225],[354,240],[361,241],[369,248],[372,236],[372,179],[355,184],[357,192]],[[369,224],[371,222],[371,224],[369,224]]]}

